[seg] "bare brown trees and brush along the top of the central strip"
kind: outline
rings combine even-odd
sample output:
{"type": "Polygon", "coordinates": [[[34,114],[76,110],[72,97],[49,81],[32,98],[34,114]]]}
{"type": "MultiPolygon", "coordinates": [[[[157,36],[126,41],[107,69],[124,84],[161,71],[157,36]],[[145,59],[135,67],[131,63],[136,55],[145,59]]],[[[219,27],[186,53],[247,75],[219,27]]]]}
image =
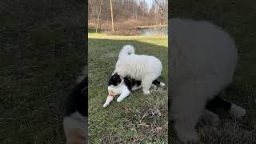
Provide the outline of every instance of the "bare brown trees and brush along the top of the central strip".
{"type": "Polygon", "coordinates": [[[89,0],[89,27],[111,30],[110,1],[112,1],[115,30],[136,26],[166,25],[168,22],[168,0],[89,0]],[[97,26],[98,25],[98,26],[97,26]]]}

